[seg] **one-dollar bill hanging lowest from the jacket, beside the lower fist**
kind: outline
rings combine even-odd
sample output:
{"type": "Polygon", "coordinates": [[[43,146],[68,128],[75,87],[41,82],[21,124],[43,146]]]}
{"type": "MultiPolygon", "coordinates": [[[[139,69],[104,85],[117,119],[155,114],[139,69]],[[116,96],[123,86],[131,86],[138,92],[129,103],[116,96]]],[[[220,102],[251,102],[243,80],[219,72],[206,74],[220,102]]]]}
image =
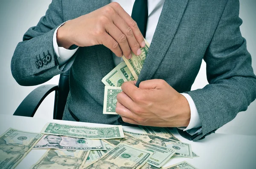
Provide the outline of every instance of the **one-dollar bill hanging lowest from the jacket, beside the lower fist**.
{"type": "Polygon", "coordinates": [[[103,114],[116,114],[116,96],[122,92],[121,87],[105,86],[103,114]]]}

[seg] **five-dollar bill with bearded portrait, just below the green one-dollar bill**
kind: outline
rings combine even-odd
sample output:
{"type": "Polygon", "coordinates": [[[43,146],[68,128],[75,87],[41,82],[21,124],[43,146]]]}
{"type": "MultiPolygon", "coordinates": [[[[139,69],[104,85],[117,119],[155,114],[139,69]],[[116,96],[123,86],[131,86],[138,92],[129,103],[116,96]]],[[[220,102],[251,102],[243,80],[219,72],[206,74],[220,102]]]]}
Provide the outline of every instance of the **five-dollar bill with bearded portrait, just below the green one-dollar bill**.
{"type": "Polygon", "coordinates": [[[107,150],[104,141],[61,135],[44,135],[34,149],[107,150]]]}

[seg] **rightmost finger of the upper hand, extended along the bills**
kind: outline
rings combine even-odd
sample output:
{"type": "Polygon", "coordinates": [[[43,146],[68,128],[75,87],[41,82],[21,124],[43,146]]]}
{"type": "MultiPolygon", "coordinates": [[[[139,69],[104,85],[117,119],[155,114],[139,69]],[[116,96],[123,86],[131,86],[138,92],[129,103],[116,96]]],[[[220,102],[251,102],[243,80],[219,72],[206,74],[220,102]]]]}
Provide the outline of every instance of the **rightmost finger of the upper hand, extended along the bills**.
{"type": "MultiPolygon", "coordinates": [[[[136,38],[137,42],[140,44],[140,47],[144,48],[145,47],[145,41],[143,38],[143,35],[140,32],[140,29],[137,25],[137,23],[131,18],[127,12],[119,5],[119,3],[110,3],[109,4],[116,12],[117,14],[125,20],[127,25],[132,29],[134,33],[134,37],[136,38]]],[[[136,53],[134,53],[136,54],[136,53]]]]}

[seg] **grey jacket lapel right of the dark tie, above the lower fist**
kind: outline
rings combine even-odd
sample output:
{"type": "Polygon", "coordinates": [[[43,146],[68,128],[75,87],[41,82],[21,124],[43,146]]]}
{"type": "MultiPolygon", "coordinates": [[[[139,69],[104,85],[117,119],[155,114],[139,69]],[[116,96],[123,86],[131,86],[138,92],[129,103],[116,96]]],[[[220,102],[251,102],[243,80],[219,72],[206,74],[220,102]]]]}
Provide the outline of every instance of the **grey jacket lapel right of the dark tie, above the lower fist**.
{"type": "Polygon", "coordinates": [[[154,75],[171,45],[187,3],[188,0],[165,1],[137,86],[154,75]]]}

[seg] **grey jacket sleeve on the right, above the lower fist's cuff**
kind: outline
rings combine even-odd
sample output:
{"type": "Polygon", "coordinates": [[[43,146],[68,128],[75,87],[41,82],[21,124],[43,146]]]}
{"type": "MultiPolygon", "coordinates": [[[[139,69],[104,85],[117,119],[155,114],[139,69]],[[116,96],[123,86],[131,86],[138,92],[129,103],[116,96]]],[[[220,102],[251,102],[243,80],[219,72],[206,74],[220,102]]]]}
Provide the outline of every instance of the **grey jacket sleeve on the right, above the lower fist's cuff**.
{"type": "Polygon", "coordinates": [[[209,85],[187,92],[195,102],[202,130],[193,140],[202,139],[247,110],[256,98],[256,76],[246,41],[241,36],[239,0],[227,0],[204,61],[209,85]]]}

